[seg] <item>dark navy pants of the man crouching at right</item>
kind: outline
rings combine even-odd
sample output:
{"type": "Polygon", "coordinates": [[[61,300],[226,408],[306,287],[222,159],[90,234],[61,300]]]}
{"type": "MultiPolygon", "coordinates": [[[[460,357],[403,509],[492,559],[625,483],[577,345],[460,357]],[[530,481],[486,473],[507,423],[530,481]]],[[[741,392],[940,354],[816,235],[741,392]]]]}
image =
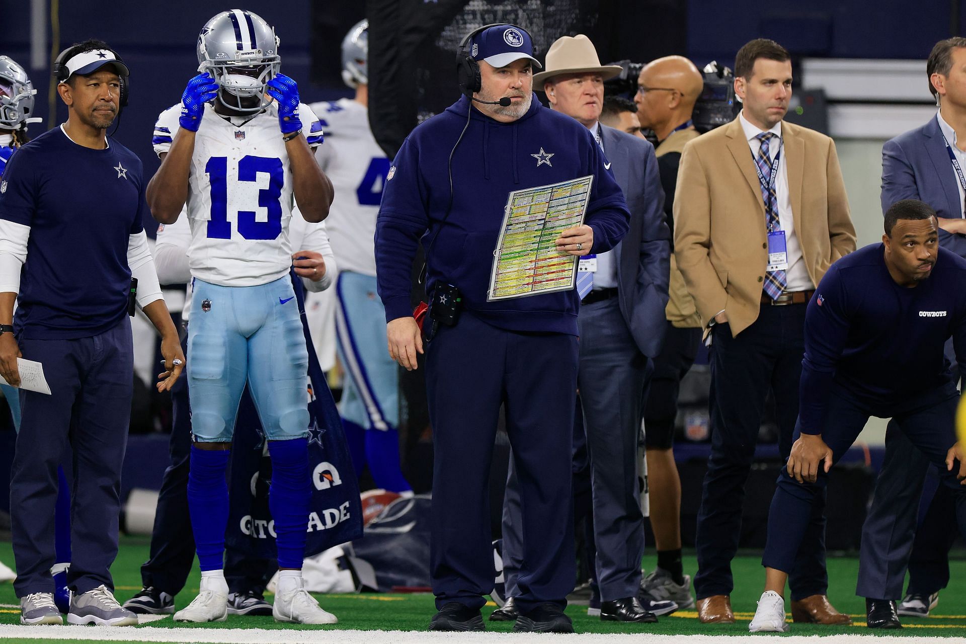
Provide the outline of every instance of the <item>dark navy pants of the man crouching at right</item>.
{"type": "MultiPolygon", "coordinates": [[[[966,486],[961,486],[956,481],[958,464],[951,472],[946,469],[945,462],[946,453],[956,441],[953,423],[958,403],[959,394],[956,393],[952,383],[942,392],[930,392],[918,400],[909,398],[901,400],[898,403],[901,408],[887,408],[884,405],[876,408],[864,404],[840,386],[835,385],[829,394],[822,424],[822,439],[832,450],[835,462],[838,462],[862,432],[869,416],[892,416],[899,429],[929,461],[939,468],[943,485],[949,487],[955,494],[956,519],[960,531],[964,531],[966,530],[966,486]]],[[[800,428],[795,430],[796,440],[800,435],[799,430],[800,428]]],[[[772,497],[772,506],[768,514],[768,543],[761,559],[763,566],[786,573],[792,570],[799,554],[799,546],[802,544],[802,535],[809,524],[812,506],[816,497],[824,492],[828,478],[824,468],[819,466],[815,483],[798,483],[788,475],[787,468],[781,468],[778,489],[772,497]]],[[[878,531],[883,533],[882,539],[875,543],[885,546],[888,543],[886,539],[888,533],[893,530],[895,525],[880,521],[878,531]]],[[[895,598],[873,597],[872,599],[895,598]]]]}

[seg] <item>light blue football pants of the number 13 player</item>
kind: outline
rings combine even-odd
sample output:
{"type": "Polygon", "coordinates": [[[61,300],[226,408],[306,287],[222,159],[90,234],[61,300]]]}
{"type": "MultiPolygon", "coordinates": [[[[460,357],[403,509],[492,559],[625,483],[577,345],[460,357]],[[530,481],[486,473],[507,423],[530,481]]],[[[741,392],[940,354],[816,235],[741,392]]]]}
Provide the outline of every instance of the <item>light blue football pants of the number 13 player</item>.
{"type": "Polygon", "coordinates": [[[308,435],[308,350],[289,277],[193,285],[187,383],[195,441],[231,442],[245,381],[269,440],[308,435]]]}

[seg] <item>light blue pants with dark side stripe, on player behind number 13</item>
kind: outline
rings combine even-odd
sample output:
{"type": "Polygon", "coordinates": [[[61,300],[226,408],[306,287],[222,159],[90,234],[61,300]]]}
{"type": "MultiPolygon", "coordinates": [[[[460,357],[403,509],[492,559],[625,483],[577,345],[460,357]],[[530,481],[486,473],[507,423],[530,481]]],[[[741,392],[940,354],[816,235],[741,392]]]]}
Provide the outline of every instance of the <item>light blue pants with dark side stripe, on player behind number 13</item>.
{"type": "Polygon", "coordinates": [[[367,430],[399,425],[399,366],[386,349],[385,309],[376,278],[339,273],[335,329],[339,359],[346,369],[339,414],[367,430]]]}

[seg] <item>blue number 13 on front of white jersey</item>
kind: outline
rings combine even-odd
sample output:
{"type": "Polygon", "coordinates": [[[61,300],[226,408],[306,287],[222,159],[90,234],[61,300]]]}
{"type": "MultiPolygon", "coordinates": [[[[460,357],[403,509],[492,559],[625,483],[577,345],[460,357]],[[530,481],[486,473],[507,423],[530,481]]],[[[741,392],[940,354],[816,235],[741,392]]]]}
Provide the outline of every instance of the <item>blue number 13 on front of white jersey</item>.
{"type": "MultiPolygon", "coordinates": [[[[228,221],[228,157],[213,156],[205,165],[212,184],[212,218],[208,222],[208,238],[230,239],[232,223],[228,221]]],[[[282,184],[285,170],[282,160],[268,156],[242,156],[239,181],[257,181],[259,173],[269,175],[269,186],[258,191],[258,207],[268,210],[267,221],[257,221],[254,210],[238,211],[239,234],[245,239],[274,239],[282,233],[282,184]]]]}

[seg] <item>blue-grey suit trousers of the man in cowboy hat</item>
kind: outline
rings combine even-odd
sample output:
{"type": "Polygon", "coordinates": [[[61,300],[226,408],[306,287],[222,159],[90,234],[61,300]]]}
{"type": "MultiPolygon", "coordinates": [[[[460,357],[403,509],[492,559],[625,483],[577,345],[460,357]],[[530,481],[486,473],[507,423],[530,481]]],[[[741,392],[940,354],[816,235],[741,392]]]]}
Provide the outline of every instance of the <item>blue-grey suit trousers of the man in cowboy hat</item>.
{"type": "MultiPolygon", "coordinates": [[[[638,434],[651,366],[631,337],[616,298],[582,307],[578,385],[593,486],[594,540],[601,600],[636,597],[644,522],[640,513],[638,434]]],[[[521,565],[520,501],[511,469],[503,505],[503,570],[514,597],[521,565]]]]}

